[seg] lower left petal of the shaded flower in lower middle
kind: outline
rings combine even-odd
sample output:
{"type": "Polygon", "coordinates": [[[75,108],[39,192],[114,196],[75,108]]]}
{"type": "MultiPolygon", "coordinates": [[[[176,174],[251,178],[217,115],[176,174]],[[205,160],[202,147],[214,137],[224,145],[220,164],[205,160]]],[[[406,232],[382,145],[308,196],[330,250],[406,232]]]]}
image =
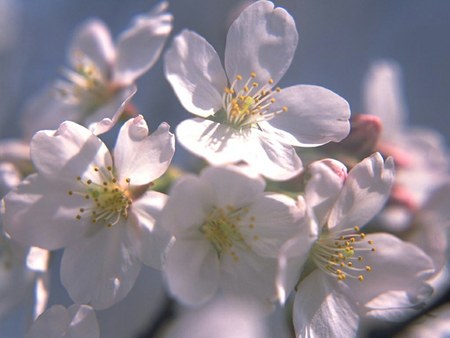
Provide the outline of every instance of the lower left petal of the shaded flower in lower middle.
{"type": "Polygon", "coordinates": [[[198,232],[177,237],[165,257],[163,271],[173,296],[188,305],[211,299],[219,287],[219,259],[214,247],[198,232]]]}

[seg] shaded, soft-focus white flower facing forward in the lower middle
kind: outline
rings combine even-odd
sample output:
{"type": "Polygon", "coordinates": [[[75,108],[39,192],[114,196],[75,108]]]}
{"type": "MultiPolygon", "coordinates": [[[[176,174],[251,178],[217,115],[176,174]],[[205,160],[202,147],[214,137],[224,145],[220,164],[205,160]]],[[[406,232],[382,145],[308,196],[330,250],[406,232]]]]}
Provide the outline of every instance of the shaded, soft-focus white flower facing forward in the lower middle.
{"type": "Polygon", "coordinates": [[[268,303],[275,295],[276,257],[303,216],[295,201],[265,193],[264,180],[237,167],[185,176],[161,217],[175,241],[163,264],[170,292],[199,305],[219,290],[268,303]]]}

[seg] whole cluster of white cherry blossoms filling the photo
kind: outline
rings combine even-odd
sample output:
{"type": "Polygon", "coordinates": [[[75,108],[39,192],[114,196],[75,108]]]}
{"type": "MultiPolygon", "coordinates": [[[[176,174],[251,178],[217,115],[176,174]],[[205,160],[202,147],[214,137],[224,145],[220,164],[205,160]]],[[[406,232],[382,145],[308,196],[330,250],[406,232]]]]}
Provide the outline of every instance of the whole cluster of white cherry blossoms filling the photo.
{"type": "Polygon", "coordinates": [[[133,335],[282,336],[271,324],[286,322],[356,337],[426,309],[448,282],[449,162],[436,132],[407,126],[398,65],[373,65],[366,114],[351,115],[326,88],[278,86],[299,36],[270,1],[241,11],[223,59],[172,27],[166,2],[115,41],[85,22],[23,139],[0,144],[0,315],[29,298],[27,338],[103,337],[104,310],[138,316],[132,291],[156,290],[157,310],[177,311],[133,335]],[[174,133],[133,104],[156,62],[194,115],[174,133]],[[198,171],[174,166],[176,141],[198,171]],[[49,301],[58,255],[70,304],[49,301]],[[137,286],[146,269],[164,289],[137,286]]]}

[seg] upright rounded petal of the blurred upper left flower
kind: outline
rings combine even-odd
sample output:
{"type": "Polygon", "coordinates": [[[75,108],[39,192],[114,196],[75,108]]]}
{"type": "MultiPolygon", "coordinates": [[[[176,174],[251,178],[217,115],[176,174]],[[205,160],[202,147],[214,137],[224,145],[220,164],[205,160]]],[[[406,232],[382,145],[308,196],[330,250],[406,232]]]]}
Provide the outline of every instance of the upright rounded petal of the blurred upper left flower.
{"type": "Polygon", "coordinates": [[[69,47],[69,61],[76,68],[79,55],[88,57],[103,75],[108,74],[115,57],[114,44],[108,27],[99,19],[81,25],[69,47]]]}

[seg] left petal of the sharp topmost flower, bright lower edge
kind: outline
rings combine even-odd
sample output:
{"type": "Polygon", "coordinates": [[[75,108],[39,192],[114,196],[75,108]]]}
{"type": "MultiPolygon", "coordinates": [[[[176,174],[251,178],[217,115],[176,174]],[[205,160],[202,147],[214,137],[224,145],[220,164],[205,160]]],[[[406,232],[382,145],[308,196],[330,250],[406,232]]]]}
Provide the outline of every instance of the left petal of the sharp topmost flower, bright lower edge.
{"type": "Polygon", "coordinates": [[[184,30],[164,57],[165,74],[183,107],[198,116],[222,107],[227,78],[214,48],[200,35],[184,30]]]}

